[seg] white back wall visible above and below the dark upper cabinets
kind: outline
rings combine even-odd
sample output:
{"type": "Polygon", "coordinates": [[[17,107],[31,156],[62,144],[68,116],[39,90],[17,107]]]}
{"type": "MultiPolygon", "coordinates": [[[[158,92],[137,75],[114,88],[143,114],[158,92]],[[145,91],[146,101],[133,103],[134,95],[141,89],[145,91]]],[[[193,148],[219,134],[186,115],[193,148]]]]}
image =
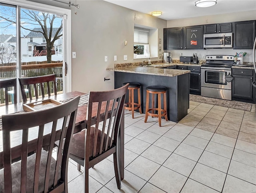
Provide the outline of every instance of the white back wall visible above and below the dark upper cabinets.
{"type": "MultiPolygon", "coordinates": [[[[194,25],[202,25],[206,24],[205,21],[208,20],[207,24],[215,24],[215,23],[225,23],[225,22],[237,22],[237,21],[246,21],[246,20],[256,20],[256,11],[246,11],[246,12],[236,12],[229,14],[219,14],[212,16],[201,16],[194,18],[185,18],[178,20],[168,20],[167,27],[181,27],[181,26],[194,26],[194,25]]],[[[165,50],[166,51],[166,50],[165,50]]],[[[167,50],[167,52],[172,53],[172,58],[179,60],[180,53],[183,56],[192,56],[193,53],[197,53],[199,60],[202,59],[202,55],[218,55],[218,54],[226,54],[226,55],[235,55],[236,52],[246,52],[246,56],[244,57],[244,62],[252,62],[252,50],[233,50],[230,48],[223,49],[207,49],[207,50],[167,50]]],[[[205,60],[205,59],[204,59],[205,60]]]]}

